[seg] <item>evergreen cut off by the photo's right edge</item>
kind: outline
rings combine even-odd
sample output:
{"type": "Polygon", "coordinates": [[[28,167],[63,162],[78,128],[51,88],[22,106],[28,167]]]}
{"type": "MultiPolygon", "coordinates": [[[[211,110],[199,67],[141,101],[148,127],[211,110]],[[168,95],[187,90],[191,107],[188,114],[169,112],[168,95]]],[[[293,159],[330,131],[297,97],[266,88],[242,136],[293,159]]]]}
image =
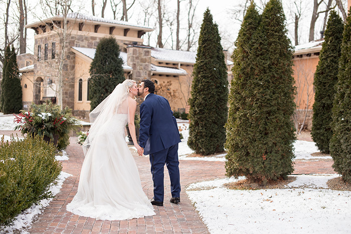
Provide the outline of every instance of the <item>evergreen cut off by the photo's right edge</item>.
{"type": "Polygon", "coordinates": [[[334,170],[351,183],[351,8],[342,36],[329,149],[334,170]]]}

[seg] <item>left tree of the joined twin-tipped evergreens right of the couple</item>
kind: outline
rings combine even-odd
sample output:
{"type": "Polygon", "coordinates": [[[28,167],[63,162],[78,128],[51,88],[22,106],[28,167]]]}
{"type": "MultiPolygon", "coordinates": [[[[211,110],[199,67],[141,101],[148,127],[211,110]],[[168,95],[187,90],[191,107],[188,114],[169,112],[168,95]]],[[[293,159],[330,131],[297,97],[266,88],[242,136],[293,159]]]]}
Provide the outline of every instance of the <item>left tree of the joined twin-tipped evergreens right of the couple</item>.
{"type": "MultiPolygon", "coordinates": [[[[241,29],[235,42],[236,49],[232,59],[233,79],[229,93],[229,115],[227,127],[227,162],[228,176],[249,175],[250,167],[255,158],[251,155],[250,146],[257,133],[254,112],[252,108],[252,94],[256,90],[255,77],[262,73],[260,64],[263,55],[260,50],[255,50],[254,35],[259,34],[261,16],[256,10],[256,5],[251,5],[246,11],[241,29]]],[[[264,64],[264,61],[261,61],[264,64]]]]}

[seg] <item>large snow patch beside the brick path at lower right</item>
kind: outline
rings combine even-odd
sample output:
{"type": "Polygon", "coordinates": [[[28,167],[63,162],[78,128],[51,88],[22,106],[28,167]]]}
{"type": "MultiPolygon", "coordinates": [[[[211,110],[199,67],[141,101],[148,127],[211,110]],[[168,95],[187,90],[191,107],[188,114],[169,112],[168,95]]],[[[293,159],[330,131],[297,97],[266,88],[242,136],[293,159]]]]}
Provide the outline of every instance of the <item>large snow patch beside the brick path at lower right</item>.
{"type": "Polygon", "coordinates": [[[335,176],[297,175],[287,186],[306,188],[266,190],[227,189],[236,180],[227,178],[192,184],[187,194],[212,234],[350,233],[351,191],[327,189],[335,176]]]}

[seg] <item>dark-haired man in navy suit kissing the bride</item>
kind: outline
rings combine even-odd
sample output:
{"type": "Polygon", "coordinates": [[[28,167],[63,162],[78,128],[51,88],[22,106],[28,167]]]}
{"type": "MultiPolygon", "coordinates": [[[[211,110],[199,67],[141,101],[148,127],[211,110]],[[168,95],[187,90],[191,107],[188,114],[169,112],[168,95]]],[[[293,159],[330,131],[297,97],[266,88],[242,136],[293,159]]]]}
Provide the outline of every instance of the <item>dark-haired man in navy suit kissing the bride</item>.
{"type": "Polygon", "coordinates": [[[181,201],[181,183],[179,174],[178,143],[181,142],[177,122],[173,117],[167,99],[155,95],[155,85],[150,80],[143,80],[138,87],[138,96],[144,98],[140,105],[139,145],[142,153],[150,155],[153,181],[153,199],[151,204],[163,205],[163,167],[166,164],[172,198],[170,202],[181,201]]]}

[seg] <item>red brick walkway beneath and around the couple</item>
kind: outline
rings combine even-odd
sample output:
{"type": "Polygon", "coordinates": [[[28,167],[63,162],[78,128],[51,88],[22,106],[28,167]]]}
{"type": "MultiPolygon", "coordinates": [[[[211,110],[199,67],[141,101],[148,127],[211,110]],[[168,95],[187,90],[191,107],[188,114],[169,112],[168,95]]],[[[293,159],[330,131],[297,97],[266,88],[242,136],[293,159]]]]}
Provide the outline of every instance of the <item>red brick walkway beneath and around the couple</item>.
{"type": "MultiPolygon", "coordinates": [[[[13,131],[0,131],[9,135],[13,131]]],[[[225,177],[224,162],[181,160],[181,203],[168,202],[170,198],[169,177],[165,171],[164,206],[155,207],[156,215],[122,221],[103,221],[72,214],[66,205],[73,199],[79,182],[79,173],[84,160],[81,146],[76,144],[77,138],[71,137],[71,144],[66,152],[69,160],[62,161],[63,171],[70,173],[61,192],[38,217],[30,233],[208,233],[185,188],[188,184],[225,177]]],[[[152,198],[152,181],[147,157],[139,157],[132,152],[139,169],[144,192],[152,198]]],[[[335,173],[331,168],[332,160],[296,161],[294,174],[302,173],[335,173]]]]}

